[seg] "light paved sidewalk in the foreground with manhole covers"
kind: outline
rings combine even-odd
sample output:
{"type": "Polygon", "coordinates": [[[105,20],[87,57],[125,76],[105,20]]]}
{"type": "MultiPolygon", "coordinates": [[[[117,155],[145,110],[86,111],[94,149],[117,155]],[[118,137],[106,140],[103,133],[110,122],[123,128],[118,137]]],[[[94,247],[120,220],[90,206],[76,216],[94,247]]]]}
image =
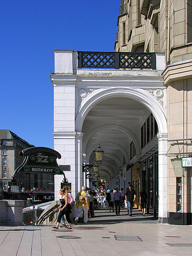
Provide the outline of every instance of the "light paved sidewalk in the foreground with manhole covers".
{"type": "Polygon", "coordinates": [[[72,231],[53,230],[50,225],[0,227],[1,256],[141,254],[192,255],[192,226],[158,224],[153,216],[143,217],[140,211],[130,217],[126,210],[119,216],[98,210],[96,218],[87,224],[73,224],[72,231]]]}

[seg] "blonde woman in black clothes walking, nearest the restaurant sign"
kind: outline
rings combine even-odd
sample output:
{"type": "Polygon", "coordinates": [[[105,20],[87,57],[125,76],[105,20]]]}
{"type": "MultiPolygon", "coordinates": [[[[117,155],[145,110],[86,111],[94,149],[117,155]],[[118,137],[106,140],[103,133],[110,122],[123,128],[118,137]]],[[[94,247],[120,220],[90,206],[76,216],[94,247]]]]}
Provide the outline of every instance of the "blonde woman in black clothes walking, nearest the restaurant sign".
{"type": "Polygon", "coordinates": [[[67,222],[68,222],[68,229],[72,229],[72,226],[71,226],[72,221],[69,218],[69,214],[71,211],[70,211],[70,204],[68,203],[67,190],[60,189],[59,194],[62,196],[62,199],[60,199],[60,205],[59,205],[60,211],[59,211],[59,215],[57,218],[57,224],[56,224],[56,226],[53,226],[53,228],[54,229],[59,228],[60,220],[62,219],[62,216],[65,214],[67,222]]]}

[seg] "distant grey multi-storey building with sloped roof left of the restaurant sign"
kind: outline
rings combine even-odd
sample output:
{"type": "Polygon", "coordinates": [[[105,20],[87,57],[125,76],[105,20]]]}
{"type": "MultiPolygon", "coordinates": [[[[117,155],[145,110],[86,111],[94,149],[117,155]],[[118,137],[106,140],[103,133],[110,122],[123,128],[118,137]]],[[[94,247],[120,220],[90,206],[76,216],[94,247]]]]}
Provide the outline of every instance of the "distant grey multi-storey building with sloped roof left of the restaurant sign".
{"type": "Polygon", "coordinates": [[[19,154],[20,151],[34,145],[9,130],[0,130],[0,141],[0,181],[3,190],[7,191],[8,182],[11,181],[14,171],[24,160],[19,154]]]}

